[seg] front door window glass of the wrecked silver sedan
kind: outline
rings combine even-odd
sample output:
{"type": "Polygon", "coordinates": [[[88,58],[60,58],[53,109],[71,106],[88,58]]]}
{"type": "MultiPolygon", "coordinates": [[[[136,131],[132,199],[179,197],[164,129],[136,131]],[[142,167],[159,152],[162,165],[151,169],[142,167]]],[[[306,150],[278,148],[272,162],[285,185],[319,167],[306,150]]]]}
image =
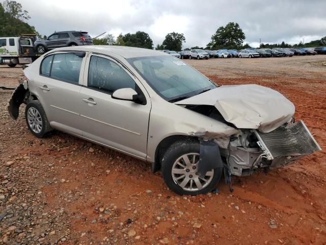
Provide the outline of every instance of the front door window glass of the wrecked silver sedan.
{"type": "Polygon", "coordinates": [[[136,84],[115,62],[92,56],[88,71],[88,86],[112,93],[120,88],[135,89],[136,84]]]}

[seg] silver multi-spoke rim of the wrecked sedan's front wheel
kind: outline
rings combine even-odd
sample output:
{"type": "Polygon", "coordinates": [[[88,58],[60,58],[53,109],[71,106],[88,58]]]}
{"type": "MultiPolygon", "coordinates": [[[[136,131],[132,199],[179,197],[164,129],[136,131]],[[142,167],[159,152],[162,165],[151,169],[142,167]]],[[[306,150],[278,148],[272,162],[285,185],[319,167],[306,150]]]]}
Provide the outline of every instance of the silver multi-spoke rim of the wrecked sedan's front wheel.
{"type": "Polygon", "coordinates": [[[179,157],[173,164],[171,174],[173,181],[186,191],[198,191],[212,181],[214,169],[208,171],[204,178],[198,175],[198,153],[188,153],[179,157]]]}

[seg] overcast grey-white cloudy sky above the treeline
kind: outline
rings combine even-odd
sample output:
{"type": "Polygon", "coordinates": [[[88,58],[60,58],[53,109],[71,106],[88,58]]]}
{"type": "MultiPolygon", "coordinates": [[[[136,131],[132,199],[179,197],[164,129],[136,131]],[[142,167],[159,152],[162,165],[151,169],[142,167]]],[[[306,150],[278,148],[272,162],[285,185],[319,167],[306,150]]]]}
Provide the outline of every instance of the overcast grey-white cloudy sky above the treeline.
{"type": "MultiPolygon", "coordinates": [[[[0,0],[2,1],[2,0],[0,0]]],[[[239,23],[245,42],[298,43],[326,36],[324,0],[16,0],[32,17],[41,35],[82,30],[92,37],[103,32],[147,32],[154,45],[170,32],[183,33],[184,47],[205,46],[228,22],[239,23]]]]}

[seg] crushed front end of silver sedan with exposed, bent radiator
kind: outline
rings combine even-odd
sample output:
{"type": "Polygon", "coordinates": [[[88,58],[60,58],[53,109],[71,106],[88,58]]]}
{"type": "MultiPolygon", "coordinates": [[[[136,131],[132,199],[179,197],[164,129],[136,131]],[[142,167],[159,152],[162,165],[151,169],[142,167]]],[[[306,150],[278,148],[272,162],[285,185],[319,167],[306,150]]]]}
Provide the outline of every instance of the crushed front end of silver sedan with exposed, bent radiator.
{"type": "Polygon", "coordinates": [[[289,122],[262,133],[241,130],[230,138],[215,139],[230,174],[248,176],[258,169],[287,165],[303,156],[321,151],[320,146],[303,121],[289,122]]]}

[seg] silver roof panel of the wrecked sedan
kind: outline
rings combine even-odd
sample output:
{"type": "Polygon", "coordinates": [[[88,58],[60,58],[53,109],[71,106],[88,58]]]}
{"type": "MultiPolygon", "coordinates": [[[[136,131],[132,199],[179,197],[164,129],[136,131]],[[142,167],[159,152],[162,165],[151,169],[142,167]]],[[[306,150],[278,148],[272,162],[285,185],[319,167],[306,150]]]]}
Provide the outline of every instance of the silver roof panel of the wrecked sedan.
{"type": "Polygon", "coordinates": [[[100,53],[103,55],[120,55],[123,58],[146,57],[146,56],[163,56],[164,52],[149,50],[148,48],[140,47],[127,47],[127,46],[111,46],[111,45],[86,45],[86,46],[73,46],[56,48],[53,51],[86,51],[93,53],[100,53]]]}

